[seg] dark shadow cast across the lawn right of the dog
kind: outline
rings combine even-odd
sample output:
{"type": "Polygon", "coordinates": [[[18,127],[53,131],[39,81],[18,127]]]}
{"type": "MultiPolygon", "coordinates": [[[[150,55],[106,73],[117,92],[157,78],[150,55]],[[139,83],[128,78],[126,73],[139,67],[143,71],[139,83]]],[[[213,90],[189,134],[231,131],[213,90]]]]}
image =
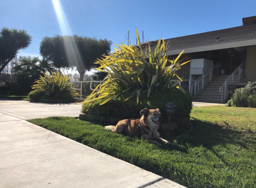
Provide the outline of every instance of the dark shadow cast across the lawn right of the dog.
{"type": "MultiPolygon", "coordinates": [[[[92,122],[103,127],[110,125],[111,123],[100,123],[92,122]]],[[[190,123],[193,124],[193,130],[185,132],[179,138],[175,136],[167,137],[161,136],[161,138],[168,140],[173,143],[174,140],[177,141],[177,145],[164,144],[163,142],[155,139],[155,141],[162,144],[163,150],[178,150],[180,152],[188,153],[189,147],[206,147],[207,149],[213,151],[218,158],[222,158],[218,153],[216,153],[212,147],[220,145],[222,147],[227,147],[228,144],[240,145],[245,149],[248,148],[248,144],[256,144],[256,139],[253,136],[253,132],[245,132],[236,130],[235,127],[230,126],[227,122],[224,122],[224,126],[220,126],[217,123],[211,123],[208,121],[201,121],[195,118],[191,118],[190,123]]],[[[127,135],[122,133],[122,135],[127,135]]],[[[225,161],[223,161],[225,162],[225,161]]]]}

